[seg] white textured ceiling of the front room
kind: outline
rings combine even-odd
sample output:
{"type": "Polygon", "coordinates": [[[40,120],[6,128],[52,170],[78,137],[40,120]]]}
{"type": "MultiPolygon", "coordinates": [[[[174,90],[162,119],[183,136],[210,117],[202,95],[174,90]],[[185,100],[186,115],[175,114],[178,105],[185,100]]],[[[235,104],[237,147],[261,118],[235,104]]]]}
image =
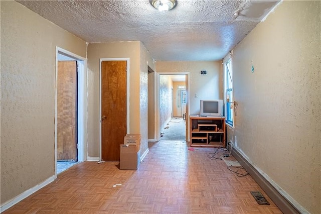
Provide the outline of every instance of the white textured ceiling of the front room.
{"type": "Polygon", "coordinates": [[[148,0],[17,2],[89,43],[141,41],[155,60],[212,61],[226,56],[279,1],[179,0],[168,12],[148,0]]]}

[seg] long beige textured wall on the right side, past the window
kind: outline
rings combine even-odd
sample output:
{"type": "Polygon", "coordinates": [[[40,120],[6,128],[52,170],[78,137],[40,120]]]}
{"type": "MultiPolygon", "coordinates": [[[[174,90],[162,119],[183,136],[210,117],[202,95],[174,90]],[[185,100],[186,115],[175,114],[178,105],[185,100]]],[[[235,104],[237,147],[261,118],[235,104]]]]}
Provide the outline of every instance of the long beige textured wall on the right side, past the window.
{"type": "Polygon", "coordinates": [[[233,56],[235,146],[310,213],[321,213],[320,16],[319,1],[284,1],[233,56]]]}

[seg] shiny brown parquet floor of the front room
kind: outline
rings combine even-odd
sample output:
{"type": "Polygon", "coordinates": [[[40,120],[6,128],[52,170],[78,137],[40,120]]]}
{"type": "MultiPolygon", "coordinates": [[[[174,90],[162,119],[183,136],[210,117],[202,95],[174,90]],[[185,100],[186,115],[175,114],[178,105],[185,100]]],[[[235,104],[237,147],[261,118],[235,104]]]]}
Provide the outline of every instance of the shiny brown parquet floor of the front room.
{"type": "Polygon", "coordinates": [[[216,149],[150,145],[136,171],[119,170],[119,162],[79,163],[4,213],[282,213],[251,176],[210,159],[216,149]],[[255,190],[270,205],[257,204],[255,190]]]}

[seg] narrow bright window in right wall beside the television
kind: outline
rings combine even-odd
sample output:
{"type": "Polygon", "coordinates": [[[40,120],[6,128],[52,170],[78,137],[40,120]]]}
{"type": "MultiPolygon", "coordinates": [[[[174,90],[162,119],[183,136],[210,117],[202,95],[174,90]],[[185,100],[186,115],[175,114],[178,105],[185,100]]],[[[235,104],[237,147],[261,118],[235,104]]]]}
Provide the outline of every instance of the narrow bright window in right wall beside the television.
{"type": "Polygon", "coordinates": [[[233,98],[233,79],[232,79],[232,58],[224,62],[224,89],[225,89],[225,120],[233,126],[234,98],[233,98]]]}

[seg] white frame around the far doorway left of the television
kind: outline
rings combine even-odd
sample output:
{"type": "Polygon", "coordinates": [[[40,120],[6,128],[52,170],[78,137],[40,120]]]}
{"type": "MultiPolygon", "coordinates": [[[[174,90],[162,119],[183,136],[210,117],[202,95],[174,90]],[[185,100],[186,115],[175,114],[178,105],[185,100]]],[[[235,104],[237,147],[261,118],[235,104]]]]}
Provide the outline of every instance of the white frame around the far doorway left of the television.
{"type": "MultiPolygon", "coordinates": [[[[156,91],[155,91],[155,97],[157,103],[155,104],[155,108],[156,108],[156,141],[161,140],[161,137],[159,137],[159,133],[161,133],[161,124],[159,119],[161,118],[161,116],[159,115],[159,76],[160,75],[185,75],[186,79],[185,79],[185,84],[186,84],[186,141],[189,142],[190,141],[190,136],[189,136],[189,127],[190,127],[190,72],[161,72],[161,73],[157,73],[157,87],[156,87],[156,91]]],[[[173,100],[172,100],[173,101],[173,100]]]]}

